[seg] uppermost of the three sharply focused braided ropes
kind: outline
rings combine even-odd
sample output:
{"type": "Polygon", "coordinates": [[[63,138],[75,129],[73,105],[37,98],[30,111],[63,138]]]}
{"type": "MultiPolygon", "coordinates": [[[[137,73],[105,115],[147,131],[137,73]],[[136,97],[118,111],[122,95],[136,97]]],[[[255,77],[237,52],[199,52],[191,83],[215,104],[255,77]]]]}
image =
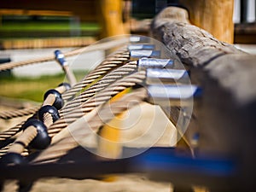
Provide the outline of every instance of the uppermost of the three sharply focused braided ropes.
{"type": "Polygon", "coordinates": [[[75,96],[80,90],[82,90],[87,85],[96,81],[100,77],[106,75],[109,71],[113,70],[115,67],[119,67],[125,61],[128,61],[129,53],[126,50],[119,51],[113,55],[110,55],[102,61],[102,63],[91,71],[88,75],[84,77],[78,84],[75,84],[70,90],[67,90],[62,94],[64,100],[69,100],[75,96]]]}

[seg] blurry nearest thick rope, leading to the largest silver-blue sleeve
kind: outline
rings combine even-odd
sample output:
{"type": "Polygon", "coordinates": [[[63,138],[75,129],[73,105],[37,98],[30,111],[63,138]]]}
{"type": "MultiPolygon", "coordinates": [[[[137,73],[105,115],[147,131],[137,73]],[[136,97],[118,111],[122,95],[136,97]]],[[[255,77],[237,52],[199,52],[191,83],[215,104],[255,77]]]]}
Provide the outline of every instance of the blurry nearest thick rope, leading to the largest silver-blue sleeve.
{"type": "Polygon", "coordinates": [[[79,143],[84,140],[84,137],[88,137],[92,132],[98,131],[102,125],[113,119],[114,115],[122,113],[128,108],[132,108],[134,105],[137,105],[137,102],[143,101],[146,96],[146,90],[140,88],[126,94],[116,102],[103,103],[56,135],[55,137],[58,138],[53,141],[49,148],[42,151],[41,154],[32,161],[32,164],[49,163],[59,160],[61,156],[67,154],[69,150],[79,146],[79,143]],[[110,111],[112,113],[109,113],[110,111]]]}

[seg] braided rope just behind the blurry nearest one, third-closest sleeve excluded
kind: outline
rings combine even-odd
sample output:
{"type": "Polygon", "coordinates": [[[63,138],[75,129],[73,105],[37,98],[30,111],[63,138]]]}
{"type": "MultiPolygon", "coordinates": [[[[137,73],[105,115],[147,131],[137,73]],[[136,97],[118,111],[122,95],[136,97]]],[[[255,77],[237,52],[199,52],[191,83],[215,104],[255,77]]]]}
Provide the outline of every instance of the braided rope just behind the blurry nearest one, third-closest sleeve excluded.
{"type": "Polygon", "coordinates": [[[55,121],[55,123],[49,127],[49,136],[55,136],[55,134],[61,131],[61,129],[67,127],[67,125],[82,117],[84,113],[89,113],[91,110],[98,107],[102,103],[107,102],[112,96],[115,96],[120,91],[125,90],[128,87],[134,86],[135,84],[143,83],[144,79],[144,71],[132,73],[131,75],[123,79],[119,79],[118,81],[108,86],[106,89],[98,92],[95,96],[84,102],[80,106],[80,108],[74,108],[69,113],[65,113],[65,115],[61,117],[61,119],[55,121]]]}

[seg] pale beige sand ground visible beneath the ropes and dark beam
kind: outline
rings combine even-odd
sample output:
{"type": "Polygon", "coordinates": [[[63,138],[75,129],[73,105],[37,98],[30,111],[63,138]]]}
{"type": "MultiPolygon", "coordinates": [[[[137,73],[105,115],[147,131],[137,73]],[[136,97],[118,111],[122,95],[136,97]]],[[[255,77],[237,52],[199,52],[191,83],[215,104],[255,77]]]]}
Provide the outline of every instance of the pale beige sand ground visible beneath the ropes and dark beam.
{"type": "MultiPolygon", "coordinates": [[[[1,111],[13,108],[1,107],[1,111]]],[[[132,108],[124,115],[125,119],[121,124],[123,133],[121,138],[124,141],[131,141],[129,147],[145,146],[173,146],[176,142],[176,131],[174,126],[166,119],[165,114],[158,107],[143,103],[136,108],[132,108]],[[163,127],[163,129],[160,129],[163,127]],[[134,139],[142,137],[143,139],[134,139]],[[157,137],[155,137],[157,136],[157,137]]],[[[0,129],[3,131],[20,123],[24,118],[12,120],[0,119],[0,129]]],[[[93,141],[93,140],[90,140],[93,141]]],[[[4,173],[1,173],[4,174],[4,173]]],[[[14,181],[7,181],[3,191],[15,191],[14,181]]],[[[42,178],[32,185],[31,191],[114,191],[114,192],[143,192],[143,191],[172,191],[171,183],[155,182],[148,179],[143,174],[122,174],[107,177],[104,180],[84,179],[77,180],[71,178],[42,178]]]]}

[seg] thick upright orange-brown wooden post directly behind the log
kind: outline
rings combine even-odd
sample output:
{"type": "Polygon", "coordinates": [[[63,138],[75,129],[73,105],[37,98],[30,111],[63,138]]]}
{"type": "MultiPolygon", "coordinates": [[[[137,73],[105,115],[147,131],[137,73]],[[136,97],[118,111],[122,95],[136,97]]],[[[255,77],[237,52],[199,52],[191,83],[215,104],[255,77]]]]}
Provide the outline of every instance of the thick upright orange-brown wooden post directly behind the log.
{"type": "Polygon", "coordinates": [[[234,0],[180,0],[189,9],[189,20],[212,33],[215,38],[233,44],[234,0]]]}

